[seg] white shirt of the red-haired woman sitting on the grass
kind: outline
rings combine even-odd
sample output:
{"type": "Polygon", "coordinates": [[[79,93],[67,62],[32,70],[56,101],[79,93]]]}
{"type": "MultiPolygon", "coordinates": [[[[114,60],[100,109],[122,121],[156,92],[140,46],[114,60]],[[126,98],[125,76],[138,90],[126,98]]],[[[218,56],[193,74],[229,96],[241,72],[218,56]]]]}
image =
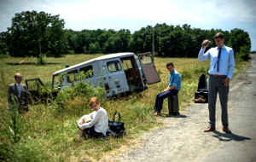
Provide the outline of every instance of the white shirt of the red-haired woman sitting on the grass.
{"type": "Polygon", "coordinates": [[[90,113],[89,115],[84,115],[83,117],[81,117],[79,119],[78,123],[81,123],[82,119],[85,116],[91,116],[91,115],[93,117],[92,120],[90,120],[90,122],[88,122],[88,123],[79,124],[79,128],[84,130],[84,129],[90,128],[94,125],[96,132],[99,132],[99,133],[102,132],[103,135],[106,136],[106,131],[108,129],[108,113],[102,107],[100,107],[100,109],[98,111],[94,111],[94,112],[90,113]]]}

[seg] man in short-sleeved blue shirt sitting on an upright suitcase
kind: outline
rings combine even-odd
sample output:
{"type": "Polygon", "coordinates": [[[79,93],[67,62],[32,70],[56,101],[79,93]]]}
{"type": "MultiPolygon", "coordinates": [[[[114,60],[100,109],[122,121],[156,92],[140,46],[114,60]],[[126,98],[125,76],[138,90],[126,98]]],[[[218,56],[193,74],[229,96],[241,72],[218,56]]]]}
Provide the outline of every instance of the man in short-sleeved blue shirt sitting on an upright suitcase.
{"type": "Polygon", "coordinates": [[[181,76],[174,70],[174,65],[172,62],[166,64],[167,70],[169,70],[169,85],[166,90],[163,90],[160,94],[156,95],[154,110],[155,115],[161,115],[161,109],[163,106],[163,101],[171,95],[177,95],[178,91],[181,89],[181,76]]]}

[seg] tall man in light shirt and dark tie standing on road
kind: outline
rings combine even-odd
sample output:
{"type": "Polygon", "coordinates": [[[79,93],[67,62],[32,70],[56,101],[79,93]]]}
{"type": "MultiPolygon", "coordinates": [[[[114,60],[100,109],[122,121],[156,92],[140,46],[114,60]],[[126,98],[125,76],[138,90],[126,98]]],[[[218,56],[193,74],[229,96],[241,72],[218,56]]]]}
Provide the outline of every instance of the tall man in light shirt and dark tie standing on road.
{"type": "Polygon", "coordinates": [[[230,78],[233,77],[235,70],[234,50],[224,45],[224,34],[218,32],[214,36],[214,42],[217,47],[205,50],[209,43],[203,42],[201,51],[198,55],[199,61],[210,59],[210,69],[208,71],[208,108],[209,108],[209,127],[205,132],[215,130],[215,113],[216,113],[216,100],[217,94],[222,110],[222,124],[223,130],[226,133],[231,133],[228,122],[228,95],[230,78]]]}

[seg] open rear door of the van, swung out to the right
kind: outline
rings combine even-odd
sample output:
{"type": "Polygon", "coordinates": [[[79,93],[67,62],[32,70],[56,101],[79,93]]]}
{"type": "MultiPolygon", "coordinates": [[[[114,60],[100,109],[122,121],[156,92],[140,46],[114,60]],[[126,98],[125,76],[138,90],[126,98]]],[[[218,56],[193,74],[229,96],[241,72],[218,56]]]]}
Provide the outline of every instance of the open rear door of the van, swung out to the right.
{"type": "Polygon", "coordinates": [[[148,84],[155,84],[160,82],[160,77],[154,66],[154,55],[151,52],[138,55],[143,74],[148,84]]]}

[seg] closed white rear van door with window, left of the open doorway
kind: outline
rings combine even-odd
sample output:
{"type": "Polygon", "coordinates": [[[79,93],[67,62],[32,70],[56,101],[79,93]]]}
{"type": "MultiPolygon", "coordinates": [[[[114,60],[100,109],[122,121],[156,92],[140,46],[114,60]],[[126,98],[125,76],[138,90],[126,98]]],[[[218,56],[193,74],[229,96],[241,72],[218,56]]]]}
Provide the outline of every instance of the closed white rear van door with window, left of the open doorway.
{"type": "Polygon", "coordinates": [[[129,90],[124,68],[119,59],[104,61],[108,73],[109,95],[118,95],[129,90]]]}

